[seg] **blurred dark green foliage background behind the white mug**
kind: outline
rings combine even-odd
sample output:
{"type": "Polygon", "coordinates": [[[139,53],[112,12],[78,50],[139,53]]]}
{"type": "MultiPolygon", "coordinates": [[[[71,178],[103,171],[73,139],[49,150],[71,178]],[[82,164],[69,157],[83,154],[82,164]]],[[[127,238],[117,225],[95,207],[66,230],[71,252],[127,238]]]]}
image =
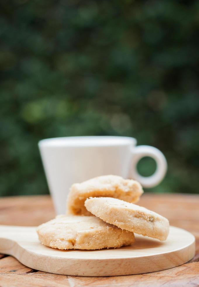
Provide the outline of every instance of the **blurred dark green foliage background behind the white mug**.
{"type": "Polygon", "coordinates": [[[150,190],[198,193],[199,1],[0,3],[0,195],[47,193],[37,142],[77,135],[155,146],[150,190]]]}

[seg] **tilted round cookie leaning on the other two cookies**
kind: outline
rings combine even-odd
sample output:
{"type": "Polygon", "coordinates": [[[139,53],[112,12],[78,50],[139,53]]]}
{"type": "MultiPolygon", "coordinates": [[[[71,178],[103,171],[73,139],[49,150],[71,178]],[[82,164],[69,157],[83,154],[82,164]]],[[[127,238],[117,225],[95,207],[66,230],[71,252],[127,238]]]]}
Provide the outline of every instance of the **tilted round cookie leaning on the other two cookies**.
{"type": "Polygon", "coordinates": [[[85,206],[92,214],[122,229],[159,240],[166,240],[169,234],[167,218],[142,206],[111,197],[86,199],[85,206]]]}

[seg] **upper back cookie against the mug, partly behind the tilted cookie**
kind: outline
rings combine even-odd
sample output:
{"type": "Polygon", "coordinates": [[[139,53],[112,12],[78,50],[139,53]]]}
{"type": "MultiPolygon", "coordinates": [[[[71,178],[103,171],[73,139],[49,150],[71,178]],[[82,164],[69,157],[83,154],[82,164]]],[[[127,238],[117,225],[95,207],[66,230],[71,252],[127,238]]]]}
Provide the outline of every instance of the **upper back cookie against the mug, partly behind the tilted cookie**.
{"type": "Polygon", "coordinates": [[[136,180],[125,180],[117,175],[103,175],[75,183],[70,189],[67,214],[91,215],[84,206],[89,197],[115,197],[128,202],[137,202],[143,194],[141,184],[136,180]]]}

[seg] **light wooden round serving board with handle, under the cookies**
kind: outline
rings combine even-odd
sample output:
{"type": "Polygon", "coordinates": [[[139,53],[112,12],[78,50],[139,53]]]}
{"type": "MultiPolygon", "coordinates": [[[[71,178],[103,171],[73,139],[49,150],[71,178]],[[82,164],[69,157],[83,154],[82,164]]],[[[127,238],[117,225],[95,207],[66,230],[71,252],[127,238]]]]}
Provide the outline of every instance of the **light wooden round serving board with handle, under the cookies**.
{"type": "Polygon", "coordinates": [[[32,269],[73,276],[118,276],[160,271],[184,264],[195,254],[195,238],[171,226],[167,240],[135,235],[136,243],[117,249],[58,250],[42,245],[35,227],[0,226],[0,253],[32,269]]]}

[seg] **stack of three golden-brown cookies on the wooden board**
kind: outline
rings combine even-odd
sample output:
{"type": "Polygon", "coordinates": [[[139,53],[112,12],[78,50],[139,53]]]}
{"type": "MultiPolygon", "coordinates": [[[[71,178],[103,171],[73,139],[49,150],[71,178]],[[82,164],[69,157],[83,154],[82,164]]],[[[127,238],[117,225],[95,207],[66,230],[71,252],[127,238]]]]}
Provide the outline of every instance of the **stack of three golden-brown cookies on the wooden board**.
{"type": "Polygon", "coordinates": [[[134,203],[143,189],[135,180],[105,175],[73,184],[67,215],[41,224],[42,244],[58,249],[94,250],[134,243],[134,233],[166,240],[169,221],[134,203]]]}

